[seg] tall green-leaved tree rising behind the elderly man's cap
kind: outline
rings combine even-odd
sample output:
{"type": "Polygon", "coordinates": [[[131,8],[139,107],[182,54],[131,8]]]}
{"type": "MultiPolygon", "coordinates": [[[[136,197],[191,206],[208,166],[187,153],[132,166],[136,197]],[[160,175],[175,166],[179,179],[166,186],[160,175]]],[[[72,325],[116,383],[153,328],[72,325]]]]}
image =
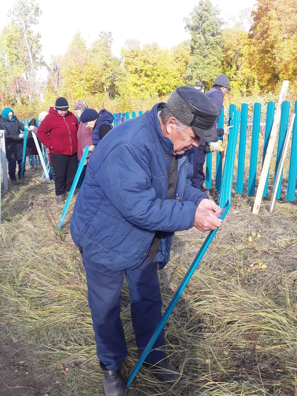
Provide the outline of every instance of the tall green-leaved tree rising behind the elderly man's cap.
{"type": "Polygon", "coordinates": [[[188,18],[186,30],[191,35],[191,56],[187,79],[192,86],[208,89],[222,70],[222,24],[219,10],[209,0],[200,0],[188,18]]]}

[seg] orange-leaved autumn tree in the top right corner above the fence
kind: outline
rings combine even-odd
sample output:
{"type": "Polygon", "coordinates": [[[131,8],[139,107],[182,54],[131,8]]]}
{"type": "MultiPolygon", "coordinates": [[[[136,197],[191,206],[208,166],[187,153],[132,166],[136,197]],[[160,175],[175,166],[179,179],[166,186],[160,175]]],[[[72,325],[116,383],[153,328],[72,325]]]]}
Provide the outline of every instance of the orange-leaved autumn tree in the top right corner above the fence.
{"type": "Polygon", "coordinates": [[[273,90],[279,80],[296,82],[297,13],[291,0],[259,0],[252,12],[249,37],[261,88],[273,90]]]}

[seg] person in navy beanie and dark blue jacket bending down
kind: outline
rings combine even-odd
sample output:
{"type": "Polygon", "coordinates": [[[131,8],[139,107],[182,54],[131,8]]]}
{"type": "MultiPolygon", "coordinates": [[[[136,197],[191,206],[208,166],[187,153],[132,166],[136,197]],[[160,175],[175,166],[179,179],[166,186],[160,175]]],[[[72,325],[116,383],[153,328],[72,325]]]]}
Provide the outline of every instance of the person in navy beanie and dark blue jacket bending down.
{"type": "Polygon", "coordinates": [[[80,120],[93,130],[92,139],[94,146],[113,128],[113,115],[105,109],[100,110],[99,113],[94,109],[86,109],[80,115],[80,120]]]}

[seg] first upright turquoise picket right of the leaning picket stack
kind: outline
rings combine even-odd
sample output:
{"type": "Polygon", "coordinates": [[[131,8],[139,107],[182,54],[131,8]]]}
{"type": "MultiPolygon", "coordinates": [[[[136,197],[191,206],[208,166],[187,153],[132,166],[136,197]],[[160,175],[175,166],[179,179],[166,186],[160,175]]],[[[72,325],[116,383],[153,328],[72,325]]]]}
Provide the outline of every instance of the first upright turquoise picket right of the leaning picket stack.
{"type": "MultiPolygon", "coordinates": [[[[237,179],[236,179],[236,192],[238,194],[242,194],[244,187],[244,162],[246,158],[246,130],[247,130],[248,108],[249,107],[247,103],[242,103],[239,148],[238,148],[238,167],[237,167],[237,179]]],[[[230,129],[229,133],[233,133],[232,129],[230,129]]]]}

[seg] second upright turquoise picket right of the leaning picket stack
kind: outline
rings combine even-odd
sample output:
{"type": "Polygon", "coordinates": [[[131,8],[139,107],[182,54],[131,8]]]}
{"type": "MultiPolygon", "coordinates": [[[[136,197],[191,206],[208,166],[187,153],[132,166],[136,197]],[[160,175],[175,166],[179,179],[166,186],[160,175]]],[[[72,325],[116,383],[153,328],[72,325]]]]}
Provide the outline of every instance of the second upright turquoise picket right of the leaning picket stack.
{"type": "Polygon", "coordinates": [[[255,195],[260,120],[261,120],[261,103],[255,103],[254,114],[253,114],[253,130],[251,133],[251,155],[249,158],[249,181],[247,185],[247,194],[249,195],[255,195]]]}

